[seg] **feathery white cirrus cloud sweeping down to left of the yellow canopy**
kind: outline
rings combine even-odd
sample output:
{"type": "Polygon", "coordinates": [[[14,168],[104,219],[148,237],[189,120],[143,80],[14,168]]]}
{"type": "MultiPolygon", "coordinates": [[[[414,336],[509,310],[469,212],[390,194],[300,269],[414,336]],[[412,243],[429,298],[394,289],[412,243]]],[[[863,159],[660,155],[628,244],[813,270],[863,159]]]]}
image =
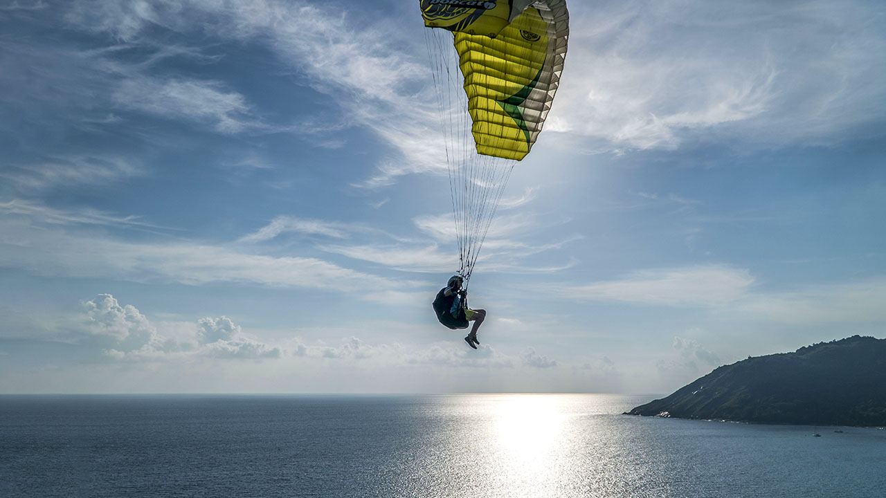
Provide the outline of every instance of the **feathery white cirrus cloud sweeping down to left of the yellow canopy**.
{"type": "MultiPolygon", "coordinates": [[[[335,133],[343,126],[360,126],[400,151],[400,157],[382,160],[376,175],[355,185],[389,185],[411,173],[445,175],[436,99],[429,88],[416,93],[429,81],[427,65],[416,51],[404,50],[414,43],[400,35],[395,19],[358,17],[336,6],[307,2],[248,1],[74,2],[65,19],[71,27],[109,33],[130,44],[142,43],[151,27],[181,33],[200,29],[220,40],[267,43],[303,82],[338,102],[341,118],[334,120],[335,126],[314,130],[318,144],[341,145],[338,139],[323,138],[326,128],[335,133]]],[[[245,97],[218,82],[181,76],[161,80],[136,68],[123,68],[126,78],[113,92],[123,108],[206,123],[222,133],[291,128],[303,134],[312,129],[269,126],[254,117],[245,97]]]]}

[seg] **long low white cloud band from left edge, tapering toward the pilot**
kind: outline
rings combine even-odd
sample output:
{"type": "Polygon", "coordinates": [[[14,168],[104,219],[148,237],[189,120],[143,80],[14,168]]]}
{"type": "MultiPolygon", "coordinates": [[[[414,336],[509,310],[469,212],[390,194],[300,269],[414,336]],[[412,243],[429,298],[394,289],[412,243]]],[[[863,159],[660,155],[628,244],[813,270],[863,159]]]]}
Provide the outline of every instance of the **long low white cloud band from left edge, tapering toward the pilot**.
{"type": "Polygon", "coordinates": [[[224,245],[121,242],[94,233],[67,233],[0,220],[0,267],[40,275],[122,278],[137,282],[214,282],[298,286],[361,295],[402,292],[424,283],[392,280],[328,261],[238,252],[224,245]]]}

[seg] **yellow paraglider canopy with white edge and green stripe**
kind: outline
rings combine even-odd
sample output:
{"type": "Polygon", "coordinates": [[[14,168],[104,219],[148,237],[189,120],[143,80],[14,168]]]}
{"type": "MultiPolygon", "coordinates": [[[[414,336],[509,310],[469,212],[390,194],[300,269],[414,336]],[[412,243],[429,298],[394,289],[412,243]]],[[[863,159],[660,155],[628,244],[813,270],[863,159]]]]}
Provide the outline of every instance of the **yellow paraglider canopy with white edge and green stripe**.
{"type": "Polygon", "coordinates": [[[477,152],[522,160],[554,99],[569,37],[563,0],[422,0],[426,27],[455,33],[477,152]]]}

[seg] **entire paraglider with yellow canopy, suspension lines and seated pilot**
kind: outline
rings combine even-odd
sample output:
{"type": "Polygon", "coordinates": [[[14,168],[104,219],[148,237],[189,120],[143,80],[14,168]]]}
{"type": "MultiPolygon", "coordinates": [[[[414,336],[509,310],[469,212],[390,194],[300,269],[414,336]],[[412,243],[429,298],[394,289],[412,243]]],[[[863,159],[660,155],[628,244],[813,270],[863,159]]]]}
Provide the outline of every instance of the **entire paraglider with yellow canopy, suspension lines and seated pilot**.
{"type": "MultiPolygon", "coordinates": [[[[517,161],[532,151],[554,100],[569,12],[564,0],[420,0],[420,5],[424,26],[433,28],[424,31],[459,249],[462,282],[454,292],[462,292],[463,303],[504,186],[517,161]]],[[[451,288],[452,279],[439,293],[451,288]]],[[[455,312],[458,321],[462,315],[455,312]]],[[[439,313],[438,318],[450,326],[449,318],[439,313]]],[[[455,328],[467,327],[466,321],[458,324],[455,328]]]]}

